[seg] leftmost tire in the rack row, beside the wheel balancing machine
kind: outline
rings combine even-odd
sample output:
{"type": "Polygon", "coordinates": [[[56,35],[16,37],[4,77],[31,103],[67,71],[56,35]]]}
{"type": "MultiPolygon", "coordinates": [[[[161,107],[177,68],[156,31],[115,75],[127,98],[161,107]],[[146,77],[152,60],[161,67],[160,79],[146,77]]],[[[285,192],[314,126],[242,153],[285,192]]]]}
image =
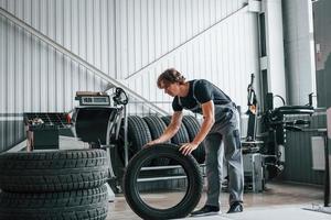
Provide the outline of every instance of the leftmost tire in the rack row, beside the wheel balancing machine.
{"type": "MultiPolygon", "coordinates": [[[[124,124],[124,123],[122,123],[124,124]]],[[[128,117],[128,157],[129,160],[142,148],[145,144],[152,141],[149,128],[145,120],[138,116],[128,117]]],[[[124,129],[119,133],[119,157],[125,164],[124,129]]]]}

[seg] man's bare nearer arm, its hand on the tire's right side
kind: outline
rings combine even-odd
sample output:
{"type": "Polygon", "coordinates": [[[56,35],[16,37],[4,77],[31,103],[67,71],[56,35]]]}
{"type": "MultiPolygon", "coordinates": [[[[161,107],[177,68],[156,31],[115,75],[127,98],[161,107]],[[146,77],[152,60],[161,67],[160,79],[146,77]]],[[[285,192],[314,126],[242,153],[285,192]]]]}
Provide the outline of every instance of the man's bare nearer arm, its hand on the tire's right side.
{"type": "Polygon", "coordinates": [[[214,101],[210,100],[203,103],[201,108],[203,112],[203,122],[194,140],[191,143],[186,143],[180,147],[180,151],[182,151],[184,155],[191,154],[192,151],[194,151],[199,146],[199,144],[206,138],[213,124],[215,123],[214,101]]]}

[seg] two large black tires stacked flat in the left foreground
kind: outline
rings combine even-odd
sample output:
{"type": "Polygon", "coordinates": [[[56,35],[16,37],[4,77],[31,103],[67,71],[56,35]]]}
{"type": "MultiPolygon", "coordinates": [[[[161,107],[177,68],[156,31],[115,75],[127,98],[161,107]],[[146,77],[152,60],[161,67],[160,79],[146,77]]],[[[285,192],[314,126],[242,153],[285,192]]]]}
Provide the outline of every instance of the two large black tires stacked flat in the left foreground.
{"type": "Polygon", "coordinates": [[[104,150],[0,154],[0,220],[104,220],[104,150]]]}

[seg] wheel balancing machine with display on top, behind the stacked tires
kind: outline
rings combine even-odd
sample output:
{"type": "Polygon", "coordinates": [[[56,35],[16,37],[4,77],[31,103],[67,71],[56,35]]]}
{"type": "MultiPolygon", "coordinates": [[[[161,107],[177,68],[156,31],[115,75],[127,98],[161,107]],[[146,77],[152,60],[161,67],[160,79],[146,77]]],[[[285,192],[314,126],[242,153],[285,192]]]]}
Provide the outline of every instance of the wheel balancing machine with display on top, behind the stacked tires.
{"type": "MultiPolygon", "coordinates": [[[[111,96],[105,92],[77,91],[75,100],[79,101],[79,106],[74,109],[72,117],[74,135],[88,143],[92,148],[107,151],[111,187],[111,189],[108,187],[108,193],[109,195],[114,195],[114,191],[119,193],[121,179],[118,177],[122,175],[122,165],[117,156],[116,143],[121,128],[125,130],[125,140],[127,139],[128,96],[118,87],[111,96]]],[[[125,147],[125,155],[128,155],[127,147],[125,147]]]]}

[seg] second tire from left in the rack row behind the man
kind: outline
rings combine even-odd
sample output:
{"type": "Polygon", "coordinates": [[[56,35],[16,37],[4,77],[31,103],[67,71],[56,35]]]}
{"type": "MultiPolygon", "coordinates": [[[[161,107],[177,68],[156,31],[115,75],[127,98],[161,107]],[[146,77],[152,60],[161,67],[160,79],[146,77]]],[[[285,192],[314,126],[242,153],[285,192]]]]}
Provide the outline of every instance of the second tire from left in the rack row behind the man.
{"type": "MultiPolygon", "coordinates": [[[[157,116],[148,116],[145,117],[143,120],[146,121],[152,140],[156,140],[160,138],[163,133],[163,131],[167,129],[167,124],[157,116]]],[[[167,141],[164,143],[170,143],[170,141],[167,141]]],[[[153,166],[167,166],[169,165],[170,160],[169,158],[156,158],[152,161],[153,166]]]]}

